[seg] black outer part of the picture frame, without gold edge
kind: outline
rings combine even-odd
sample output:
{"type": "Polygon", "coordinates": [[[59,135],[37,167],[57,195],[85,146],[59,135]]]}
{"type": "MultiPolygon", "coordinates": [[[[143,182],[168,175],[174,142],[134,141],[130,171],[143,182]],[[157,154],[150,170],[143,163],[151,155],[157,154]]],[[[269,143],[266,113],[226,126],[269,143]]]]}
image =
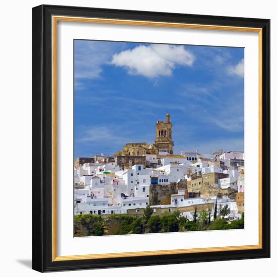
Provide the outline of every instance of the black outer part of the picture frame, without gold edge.
{"type": "Polygon", "coordinates": [[[33,269],[40,272],[270,257],[270,20],[42,5],[33,8],[33,269]],[[52,15],[262,28],[262,249],[52,261],[52,15]]]}

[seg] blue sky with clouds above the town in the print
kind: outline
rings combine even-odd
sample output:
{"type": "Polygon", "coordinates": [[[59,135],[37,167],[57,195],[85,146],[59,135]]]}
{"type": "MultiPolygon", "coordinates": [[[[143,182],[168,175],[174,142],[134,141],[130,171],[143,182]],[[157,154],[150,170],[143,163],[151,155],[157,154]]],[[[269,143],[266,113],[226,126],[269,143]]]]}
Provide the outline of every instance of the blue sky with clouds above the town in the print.
{"type": "Polygon", "coordinates": [[[154,143],[173,123],[174,152],[244,151],[244,49],[74,41],[75,158],[154,143]]]}

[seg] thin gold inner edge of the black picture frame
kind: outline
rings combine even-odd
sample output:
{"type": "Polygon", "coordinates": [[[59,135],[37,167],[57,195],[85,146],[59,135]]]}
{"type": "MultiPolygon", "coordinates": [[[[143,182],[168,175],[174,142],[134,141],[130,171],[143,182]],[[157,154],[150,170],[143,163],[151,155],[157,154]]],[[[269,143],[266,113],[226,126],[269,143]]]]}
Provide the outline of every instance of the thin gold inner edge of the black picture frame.
{"type": "Polygon", "coordinates": [[[156,21],[137,21],[137,20],[119,20],[119,19],[103,19],[103,18],[83,18],[83,17],[66,17],[52,16],[52,261],[68,261],[68,260],[86,260],[100,258],[119,258],[119,257],[137,257],[137,256],[153,256],[168,254],[185,254],[200,252],[219,252],[219,251],[235,251],[250,250],[262,248],[262,29],[252,27],[236,27],[236,26],[219,26],[219,25],[202,25],[202,24],[186,24],[156,21]],[[83,22],[83,23],[101,23],[101,24],[120,24],[134,26],[152,26],[152,27],[168,27],[168,28],[187,28],[187,29],[204,29],[218,31],[239,31],[239,32],[256,32],[258,33],[259,43],[259,244],[243,245],[243,246],[225,246],[225,247],[207,247],[193,249],[174,249],[174,250],[153,250],[138,252],[122,252],[122,253],[106,253],[106,254],[88,254],[74,256],[57,256],[57,219],[56,219],[56,148],[57,148],[57,22],[83,22]]]}

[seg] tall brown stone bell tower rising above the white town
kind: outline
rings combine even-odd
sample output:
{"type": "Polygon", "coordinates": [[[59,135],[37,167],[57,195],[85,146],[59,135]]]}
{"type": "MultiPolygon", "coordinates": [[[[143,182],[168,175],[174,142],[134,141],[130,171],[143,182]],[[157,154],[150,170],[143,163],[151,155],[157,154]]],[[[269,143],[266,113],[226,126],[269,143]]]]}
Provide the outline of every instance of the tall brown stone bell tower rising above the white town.
{"type": "Polygon", "coordinates": [[[172,139],[172,123],[170,122],[170,114],[166,114],[166,121],[157,121],[156,123],[156,140],[154,145],[159,150],[167,150],[169,154],[173,154],[172,139]]]}

